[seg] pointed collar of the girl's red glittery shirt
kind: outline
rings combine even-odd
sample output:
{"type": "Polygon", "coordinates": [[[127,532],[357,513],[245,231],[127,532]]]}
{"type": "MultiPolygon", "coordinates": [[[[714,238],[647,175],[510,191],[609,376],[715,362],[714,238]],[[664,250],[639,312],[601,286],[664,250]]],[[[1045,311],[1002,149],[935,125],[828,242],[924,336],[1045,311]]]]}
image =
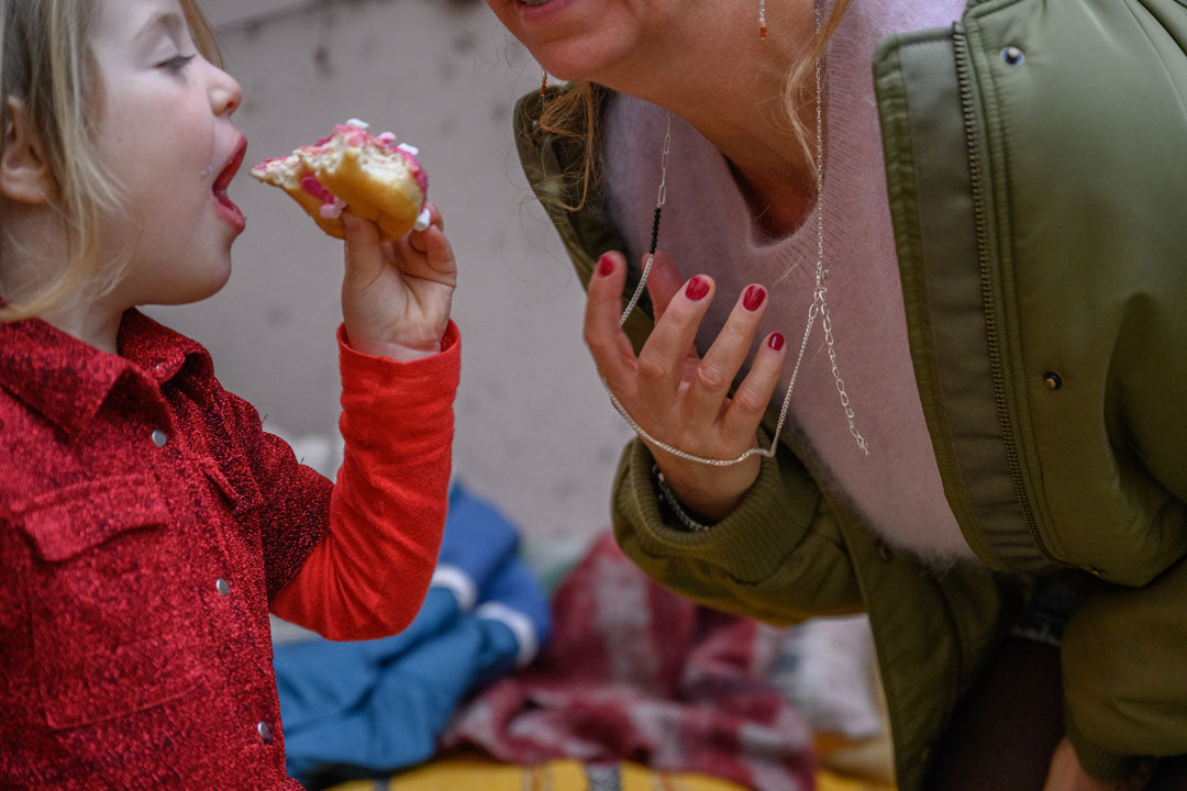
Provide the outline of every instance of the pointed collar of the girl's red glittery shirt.
{"type": "Polygon", "coordinates": [[[123,376],[159,385],[212,375],[201,344],[137,310],[123,314],[118,347],[107,353],[40,319],[0,324],[0,387],[75,436],[123,376]]]}

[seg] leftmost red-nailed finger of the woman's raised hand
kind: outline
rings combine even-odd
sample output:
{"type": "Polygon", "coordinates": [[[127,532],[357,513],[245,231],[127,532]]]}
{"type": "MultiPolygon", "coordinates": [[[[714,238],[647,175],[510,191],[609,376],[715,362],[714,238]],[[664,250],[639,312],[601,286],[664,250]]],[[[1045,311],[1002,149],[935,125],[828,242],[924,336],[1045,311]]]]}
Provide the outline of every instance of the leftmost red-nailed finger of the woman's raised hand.
{"type": "Polygon", "coordinates": [[[620,398],[630,388],[635,369],[635,350],[618,326],[626,280],[627,261],[621,254],[605,253],[598,259],[586,288],[584,325],[594,363],[620,398]]]}

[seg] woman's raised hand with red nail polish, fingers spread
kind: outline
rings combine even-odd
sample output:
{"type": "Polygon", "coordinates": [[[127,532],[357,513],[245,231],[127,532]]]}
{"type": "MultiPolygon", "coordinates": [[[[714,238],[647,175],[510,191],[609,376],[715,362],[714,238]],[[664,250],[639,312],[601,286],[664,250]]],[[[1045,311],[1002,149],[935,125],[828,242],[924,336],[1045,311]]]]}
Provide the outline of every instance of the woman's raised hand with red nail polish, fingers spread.
{"type": "MultiPolygon", "coordinates": [[[[655,328],[635,357],[618,327],[626,278],[623,257],[603,255],[590,279],[585,308],[585,343],[610,391],[643,430],[685,453],[735,459],[756,447],[758,423],[786,355],[782,336],[763,339],[745,379],[732,398],[728,394],[766,312],[766,289],[757,285],[745,289],[702,359],[693,342],[713,299],[713,281],[698,275],[681,283],[672,261],[656,253],[648,279],[655,328]]],[[[757,455],[713,467],[654,446],[652,454],[680,502],[711,521],[729,515],[758,477],[757,455]]]]}

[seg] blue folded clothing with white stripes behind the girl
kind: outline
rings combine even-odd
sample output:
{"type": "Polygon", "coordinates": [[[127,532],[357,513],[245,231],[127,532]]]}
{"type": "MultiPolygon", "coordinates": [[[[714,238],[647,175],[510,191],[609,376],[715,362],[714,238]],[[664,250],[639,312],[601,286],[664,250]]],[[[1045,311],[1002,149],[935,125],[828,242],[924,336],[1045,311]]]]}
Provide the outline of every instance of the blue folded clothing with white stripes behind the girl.
{"type": "Polygon", "coordinates": [[[312,789],[427,760],[457,706],[531,662],[550,629],[514,525],[455,485],[437,573],[408,629],[275,648],[288,773],[312,789]]]}

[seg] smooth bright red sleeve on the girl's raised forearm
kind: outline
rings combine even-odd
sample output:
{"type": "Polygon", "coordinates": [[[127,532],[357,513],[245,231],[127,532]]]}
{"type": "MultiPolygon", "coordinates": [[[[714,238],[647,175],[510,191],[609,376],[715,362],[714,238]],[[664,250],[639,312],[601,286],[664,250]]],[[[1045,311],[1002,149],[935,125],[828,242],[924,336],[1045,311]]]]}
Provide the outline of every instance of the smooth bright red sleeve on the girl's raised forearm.
{"type": "Polygon", "coordinates": [[[338,331],[345,455],[330,529],[272,600],[280,618],[337,640],[399,632],[429,589],[447,505],[457,327],[412,363],[369,357],[338,331]]]}

